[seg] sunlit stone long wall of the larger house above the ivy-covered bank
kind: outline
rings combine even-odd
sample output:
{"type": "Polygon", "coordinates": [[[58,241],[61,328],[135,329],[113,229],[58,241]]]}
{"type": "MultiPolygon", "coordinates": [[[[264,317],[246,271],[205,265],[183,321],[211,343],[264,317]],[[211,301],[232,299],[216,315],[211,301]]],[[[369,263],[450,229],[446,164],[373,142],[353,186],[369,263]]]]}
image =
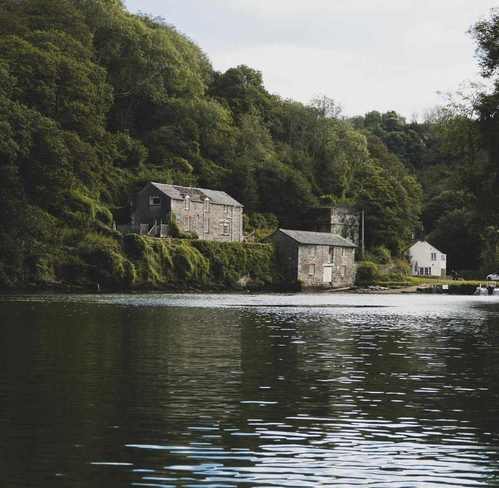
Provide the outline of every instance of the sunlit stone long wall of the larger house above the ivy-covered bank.
{"type": "Polygon", "coordinates": [[[243,238],[243,208],[228,205],[228,212],[224,212],[224,205],[210,203],[210,210],[205,212],[205,203],[190,202],[190,209],[186,210],[185,200],[173,200],[173,213],[180,230],[186,232],[185,217],[191,218],[191,232],[196,232],[200,239],[209,241],[232,242],[243,238]],[[205,233],[205,218],[210,220],[209,231],[205,233]],[[220,222],[229,223],[229,235],[220,233],[220,222]]]}

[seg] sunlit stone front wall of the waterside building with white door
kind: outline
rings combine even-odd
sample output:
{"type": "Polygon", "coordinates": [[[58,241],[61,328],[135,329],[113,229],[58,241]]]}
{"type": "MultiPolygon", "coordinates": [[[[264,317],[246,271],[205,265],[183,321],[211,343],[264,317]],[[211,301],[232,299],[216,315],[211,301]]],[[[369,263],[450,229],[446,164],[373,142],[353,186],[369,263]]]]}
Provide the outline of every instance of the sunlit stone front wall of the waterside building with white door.
{"type": "Polygon", "coordinates": [[[352,286],[355,283],[357,265],[354,248],[345,248],[346,257],[341,257],[341,247],[317,245],[315,257],[310,256],[310,247],[300,245],[298,250],[297,279],[305,282],[303,288],[331,289],[352,286]],[[333,247],[333,262],[328,263],[329,248],[333,247]],[[315,274],[310,275],[310,264],[315,264],[315,274]],[[331,282],[324,282],[324,264],[332,264],[331,282]],[[345,276],[341,276],[341,265],[346,265],[345,276]]]}

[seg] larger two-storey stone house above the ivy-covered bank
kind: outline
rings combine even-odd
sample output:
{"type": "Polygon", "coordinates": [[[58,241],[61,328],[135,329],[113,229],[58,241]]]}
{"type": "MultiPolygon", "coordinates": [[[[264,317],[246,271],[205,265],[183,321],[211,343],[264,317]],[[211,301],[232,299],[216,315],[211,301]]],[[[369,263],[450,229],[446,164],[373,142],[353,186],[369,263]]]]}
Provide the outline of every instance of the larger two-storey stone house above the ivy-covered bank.
{"type": "Polygon", "coordinates": [[[183,232],[210,241],[243,239],[243,205],[224,191],[149,183],[134,199],[134,224],[149,229],[168,222],[170,212],[183,232]]]}

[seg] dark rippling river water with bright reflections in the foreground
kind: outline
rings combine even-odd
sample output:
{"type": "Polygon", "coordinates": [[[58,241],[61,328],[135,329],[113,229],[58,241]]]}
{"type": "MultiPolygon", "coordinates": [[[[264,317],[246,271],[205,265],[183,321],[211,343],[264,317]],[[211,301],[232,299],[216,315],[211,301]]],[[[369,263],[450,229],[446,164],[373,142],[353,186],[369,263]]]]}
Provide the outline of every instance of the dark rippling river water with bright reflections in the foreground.
{"type": "Polygon", "coordinates": [[[1,487],[498,487],[498,297],[0,295],[1,487]]]}

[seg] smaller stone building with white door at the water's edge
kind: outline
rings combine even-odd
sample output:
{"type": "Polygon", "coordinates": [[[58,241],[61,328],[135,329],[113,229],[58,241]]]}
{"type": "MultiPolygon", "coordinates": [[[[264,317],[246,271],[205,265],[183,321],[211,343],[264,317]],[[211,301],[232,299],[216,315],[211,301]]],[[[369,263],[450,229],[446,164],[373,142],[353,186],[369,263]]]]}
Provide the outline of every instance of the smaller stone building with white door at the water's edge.
{"type": "Polygon", "coordinates": [[[343,288],[355,283],[355,244],[339,234],[278,229],[261,242],[286,252],[288,279],[301,280],[305,289],[343,288]]]}

